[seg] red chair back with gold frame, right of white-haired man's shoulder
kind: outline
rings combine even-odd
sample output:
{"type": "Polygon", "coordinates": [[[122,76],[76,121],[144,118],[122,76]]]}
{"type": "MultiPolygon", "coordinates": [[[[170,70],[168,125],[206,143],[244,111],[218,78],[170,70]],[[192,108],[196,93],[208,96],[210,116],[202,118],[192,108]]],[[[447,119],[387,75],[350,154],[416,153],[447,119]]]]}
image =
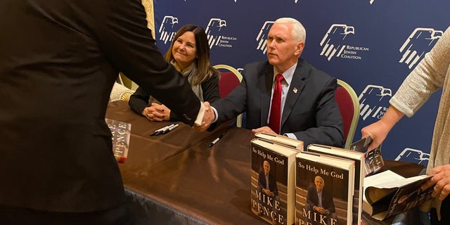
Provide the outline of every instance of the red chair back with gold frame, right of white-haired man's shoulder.
{"type": "Polygon", "coordinates": [[[359,100],[352,86],[338,79],[335,99],[338,102],[342,123],[344,126],[344,148],[349,149],[352,145],[354,133],[359,120],[359,100]]]}

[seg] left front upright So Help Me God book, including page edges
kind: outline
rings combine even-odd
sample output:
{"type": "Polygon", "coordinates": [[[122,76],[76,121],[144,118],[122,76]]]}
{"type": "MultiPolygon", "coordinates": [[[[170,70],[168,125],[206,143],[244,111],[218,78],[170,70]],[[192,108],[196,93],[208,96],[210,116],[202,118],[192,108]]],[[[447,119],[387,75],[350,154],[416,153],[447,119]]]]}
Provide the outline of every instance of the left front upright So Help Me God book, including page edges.
{"type": "Polygon", "coordinates": [[[264,139],[250,146],[252,212],[270,224],[294,224],[298,151],[264,139]]]}

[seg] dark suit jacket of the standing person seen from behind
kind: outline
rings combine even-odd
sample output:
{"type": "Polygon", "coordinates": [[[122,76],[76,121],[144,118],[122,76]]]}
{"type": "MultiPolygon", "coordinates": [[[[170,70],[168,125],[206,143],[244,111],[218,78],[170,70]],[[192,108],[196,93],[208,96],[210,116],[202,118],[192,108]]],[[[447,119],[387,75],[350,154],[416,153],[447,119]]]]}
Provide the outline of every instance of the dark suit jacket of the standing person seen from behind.
{"type": "Polygon", "coordinates": [[[120,205],[104,120],[118,72],[188,124],[200,108],[156,48],[141,0],[3,0],[0,14],[0,205],[120,205]]]}

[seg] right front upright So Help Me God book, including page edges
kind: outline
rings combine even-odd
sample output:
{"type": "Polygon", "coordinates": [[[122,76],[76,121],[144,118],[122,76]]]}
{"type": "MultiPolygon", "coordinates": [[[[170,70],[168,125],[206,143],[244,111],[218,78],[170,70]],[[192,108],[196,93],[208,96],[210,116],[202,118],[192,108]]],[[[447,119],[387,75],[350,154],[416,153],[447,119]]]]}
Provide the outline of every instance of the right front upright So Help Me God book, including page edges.
{"type": "Polygon", "coordinates": [[[295,184],[295,224],[352,224],[353,160],[297,153],[295,184]]]}

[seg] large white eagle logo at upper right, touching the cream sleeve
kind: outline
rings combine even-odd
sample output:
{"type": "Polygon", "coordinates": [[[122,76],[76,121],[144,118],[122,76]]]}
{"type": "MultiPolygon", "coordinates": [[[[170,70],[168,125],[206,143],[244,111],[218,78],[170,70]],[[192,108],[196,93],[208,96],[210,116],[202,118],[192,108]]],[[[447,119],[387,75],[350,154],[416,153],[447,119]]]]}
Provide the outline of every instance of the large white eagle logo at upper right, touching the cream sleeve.
{"type": "Polygon", "coordinates": [[[442,34],[441,30],[416,28],[400,48],[403,56],[401,56],[399,63],[406,63],[408,68],[413,68],[425,56],[425,53],[428,53],[435,46],[436,41],[442,34]]]}

